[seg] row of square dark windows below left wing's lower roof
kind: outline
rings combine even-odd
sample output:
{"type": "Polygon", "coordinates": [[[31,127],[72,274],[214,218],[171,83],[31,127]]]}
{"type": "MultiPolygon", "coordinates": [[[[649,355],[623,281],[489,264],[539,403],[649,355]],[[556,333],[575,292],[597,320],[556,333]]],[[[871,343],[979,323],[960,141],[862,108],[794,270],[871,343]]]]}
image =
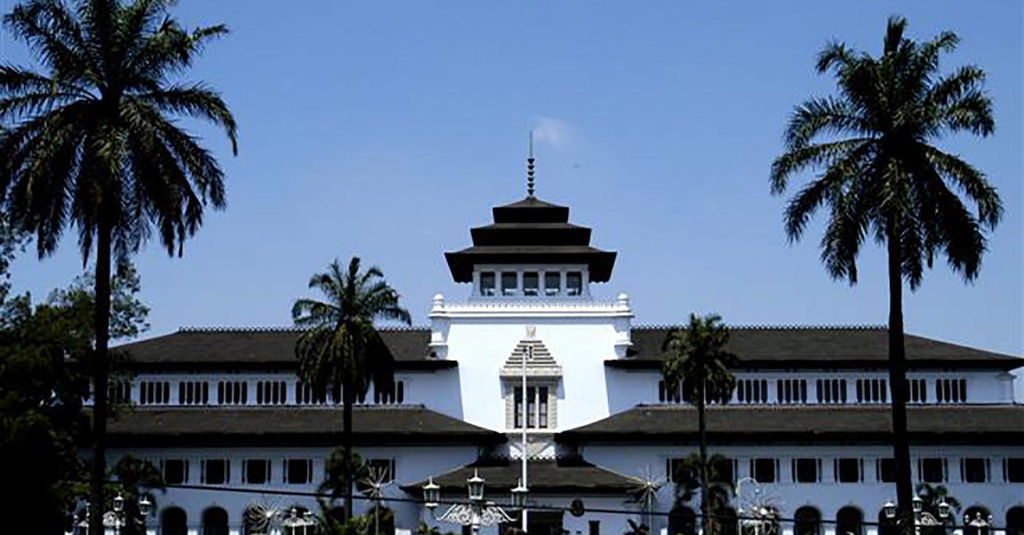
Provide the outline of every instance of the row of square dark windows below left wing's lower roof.
{"type": "MultiPolygon", "coordinates": [[[[367,465],[384,479],[391,481],[395,477],[394,459],[370,459],[367,465]]],[[[184,485],[189,480],[188,459],[164,459],[160,463],[164,482],[168,485],[184,485]]],[[[264,485],[268,483],[287,483],[305,485],[315,483],[312,459],[244,459],[241,482],[247,485],[264,485]],[[276,466],[276,468],[275,468],[276,466]],[[276,475],[276,476],[275,476],[276,475]],[[279,479],[274,479],[274,478],[279,479]]],[[[203,459],[199,465],[199,482],[203,485],[226,485],[232,483],[231,461],[229,459],[203,459]]],[[[365,483],[358,483],[359,490],[365,490],[365,483]]]]}

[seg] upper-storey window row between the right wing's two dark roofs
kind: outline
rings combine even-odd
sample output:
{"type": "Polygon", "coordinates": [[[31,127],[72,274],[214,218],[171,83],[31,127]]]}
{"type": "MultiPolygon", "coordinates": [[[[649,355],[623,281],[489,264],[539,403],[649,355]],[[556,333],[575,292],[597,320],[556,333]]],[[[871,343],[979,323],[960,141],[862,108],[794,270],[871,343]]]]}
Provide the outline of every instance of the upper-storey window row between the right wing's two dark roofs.
{"type": "MultiPolygon", "coordinates": [[[[807,379],[776,379],[774,395],[769,392],[767,379],[737,379],[736,390],[730,401],[739,404],[768,404],[769,399],[778,404],[806,404],[808,400],[807,379]]],[[[813,381],[814,398],[818,404],[849,403],[850,392],[847,379],[816,379],[813,381]]],[[[857,403],[888,403],[889,381],[886,379],[856,379],[853,381],[857,403]]],[[[928,380],[906,381],[910,403],[928,403],[928,380]]],[[[935,403],[967,403],[967,379],[935,379],[935,403]]],[[[657,383],[657,399],[663,403],[689,403],[689,397],[682,387],[667,388],[665,381],[657,383]]],[[[708,399],[709,403],[716,400],[708,399]]]]}

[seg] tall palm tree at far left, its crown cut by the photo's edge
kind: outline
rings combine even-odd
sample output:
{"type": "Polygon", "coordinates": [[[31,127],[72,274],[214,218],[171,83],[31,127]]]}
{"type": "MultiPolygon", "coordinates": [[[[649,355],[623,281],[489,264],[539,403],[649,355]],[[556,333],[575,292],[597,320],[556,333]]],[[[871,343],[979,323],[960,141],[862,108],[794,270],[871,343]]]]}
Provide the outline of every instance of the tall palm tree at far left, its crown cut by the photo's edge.
{"type": "MultiPolygon", "coordinates": [[[[236,147],[234,119],[202,83],[175,83],[223,26],[187,31],[171,0],[28,0],[4,25],[42,70],[0,65],[0,203],[36,236],[40,257],[74,227],[83,260],[95,247],[95,352],[91,498],[105,474],[111,261],[154,233],[169,253],[224,206],[216,159],[177,117],[221,126],[236,147]]],[[[102,529],[92,507],[91,530],[102,529]]]]}

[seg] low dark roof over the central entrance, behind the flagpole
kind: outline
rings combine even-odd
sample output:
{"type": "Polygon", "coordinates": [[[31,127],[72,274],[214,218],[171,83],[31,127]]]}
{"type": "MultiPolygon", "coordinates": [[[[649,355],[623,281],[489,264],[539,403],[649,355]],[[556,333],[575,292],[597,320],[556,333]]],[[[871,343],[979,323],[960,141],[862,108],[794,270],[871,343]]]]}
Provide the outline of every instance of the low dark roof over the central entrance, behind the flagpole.
{"type": "MultiPolygon", "coordinates": [[[[441,492],[466,492],[466,480],[478,474],[486,482],[486,489],[508,493],[518,485],[521,472],[518,460],[480,460],[446,474],[434,476],[441,492]]],[[[558,460],[531,460],[528,465],[528,487],[531,494],[573,493],[621,494],[635,490],[640,480],[615,474],[579,458],[558,460]]],[[[422,491],[427,480],[403,486],[410,493],[422,491]]],[[[485,491],[486,492],[486,491],[485,491]]]]}

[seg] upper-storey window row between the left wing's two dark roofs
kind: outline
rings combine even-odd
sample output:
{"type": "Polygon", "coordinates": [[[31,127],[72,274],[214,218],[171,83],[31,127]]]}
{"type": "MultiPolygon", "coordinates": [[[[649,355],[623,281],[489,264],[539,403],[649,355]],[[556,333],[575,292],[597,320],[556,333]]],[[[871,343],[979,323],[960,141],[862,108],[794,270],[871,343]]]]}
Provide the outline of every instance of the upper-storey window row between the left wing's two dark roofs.
{"type": "MultiPolygon", "coordinates": [[[[177,403],[179,405],[210,404],[210,383],[208,381],[178,381],[177,385],[177,403]]],[[[287,381],[256,381],[255,385],[256,405],[285,405],[290,401],[287,381]]],[[[112,403],[131,402],[130,381],[112,381],[108,392],[112,403]]],[[[313,388],[308,384],[296,381],[291,394],[294,395],[294,399],[291,401],[298,405],[328,403],[328,400],[333,403],[342,402],[340,387],[315,396],[313,388]]],[[[139,381],[137,400],[139,405],[169,405],[171,403],[171,383],[169,381],[139,381]]],[[[404,401],[404,381],[394,381],[390,388],[373,389],[373,403],[375,404],[400,404],[404,401]]],[[[249,381],[218,381],[216,403],[218,405],[249,404],[249,381]]],[[[367,403],[367,394],[357,396],[356,403],[367,403]]]]}

